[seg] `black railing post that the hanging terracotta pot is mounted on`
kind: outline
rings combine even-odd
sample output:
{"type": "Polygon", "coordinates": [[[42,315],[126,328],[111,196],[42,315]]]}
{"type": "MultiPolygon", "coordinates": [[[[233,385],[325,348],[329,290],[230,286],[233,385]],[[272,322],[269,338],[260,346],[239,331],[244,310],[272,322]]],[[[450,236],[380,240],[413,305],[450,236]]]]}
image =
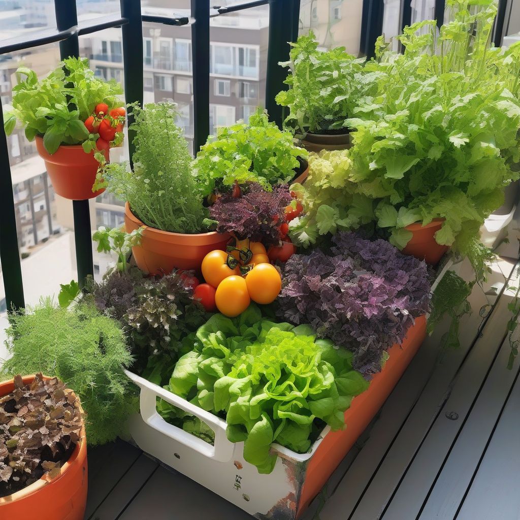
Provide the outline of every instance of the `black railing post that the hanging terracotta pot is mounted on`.
{"type": "MultiPolygon", "coordinates": [[[[77,25],[76,0],[54,0],[56,27],[59,31],[77,25]]],[[[80,42],[77,34],[60,42],[61,59],[79,57],[80,42]]],[[[73,172],[71,172],[71,175],[73,172]]],[[[73,200],[74,241],[76,245],[77,280],[82,285],[88,275],[94,275],[92,259],[92,230],[88,200],[73,200]]]]}

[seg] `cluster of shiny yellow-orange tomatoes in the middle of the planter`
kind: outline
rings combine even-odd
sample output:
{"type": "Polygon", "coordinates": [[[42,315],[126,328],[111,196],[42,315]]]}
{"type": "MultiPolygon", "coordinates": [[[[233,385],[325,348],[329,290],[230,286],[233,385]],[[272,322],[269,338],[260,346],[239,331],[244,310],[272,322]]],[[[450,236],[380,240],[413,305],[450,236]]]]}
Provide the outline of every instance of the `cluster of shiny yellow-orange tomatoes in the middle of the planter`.
{"type": "Polygon", "coordinates": [[[206,283],[201,285],[207,287],[199,289],[199,285],[193,295],[206,310],[216,307],[222,314],[235,317],[248,308],[251,300],[268,304],[280,293],[280,274],[269,263],[263,244],[247,242],[245,246],[238,241],[229,253],[215,250],[204,257],[202,276],[206,283]]]}

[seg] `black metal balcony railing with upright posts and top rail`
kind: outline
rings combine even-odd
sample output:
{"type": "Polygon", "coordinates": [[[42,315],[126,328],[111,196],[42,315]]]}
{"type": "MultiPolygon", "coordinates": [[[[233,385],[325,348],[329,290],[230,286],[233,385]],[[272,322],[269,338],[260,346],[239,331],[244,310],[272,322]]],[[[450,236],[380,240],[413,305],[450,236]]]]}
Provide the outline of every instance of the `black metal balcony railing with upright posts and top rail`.
{"type": "MultiPolygon", "coordinates": [[[[361,54],[373,56],[376,37],[381,34],[383,6],[382,0],[362,0],[363,16],[361,27],[361,54]]],[[[503,3],[503,0],[502,2],[503,3]]],[[[210,8],[209,0],[190,0],[191,17],[165,17],[142,15],[138,0],[120,0],[121,14],[105,15],[79,23],[76,2],[73,0],[54,0],[56,28],[41,29],[23,37],[8,38],[0,41],[0,59],[16,50],[30,49],[53,43],[60,43],[61,58],[79,55],[79,36],[96,33],[103,29],[122,30],[122,56],[119,54],[93,54],[92,59],[109,63],[123,63],[124,91],[127,102],[142,105],[144,93],[143,68],[156,67],[162,70],[175,70],[193,74],[193,150],[196,152],[206,141],[210,130],[210,18],[225,16],[250,7],[269,5],[269,42],[267,52],[267,77],[265,106],[272,120],[279,126],[282,122],[282,108],[277,105],[275,95],[283,88],[287,72],[278,66],[279,61],[287,59],[289,44],[298,34],[300,0],[237,0],[236,4],[226,7],[210,8]],[[192,56],[191,60],[163,60],[156,62],[143,56],[142,22],[165,25],[190,25],[192,56]],[[166,68],[171,67],[171,68],[166,68]]],[[[504,3],[505,5],[505,3],[504,3]]],[[[436,9],[444,11],[444,0],[437,0],[436,9]]],[[[502,15],[501,15],[502,16],[502,15]]],[[[497,23],[497,31],[503,30],[497,23]]],[[[228,67],[219,64],[215,73],[258,77],[257,67],[228,67]]],[[[3,115],[0,106],[0,115],[3,115]]],[[[129,141],[132,156],[133,144],[129,141]]],[[[16,230],[15,202],[12,196],[12,178],[9,168],[9,153],[5,133],[0,131],[0,261],[3,267],[6,307],[8,309],[24,306],[23,287],[16,230]]],[[[74,235],[76,245],[77,273],[80,283],[87,275],[93,274],[92,237],[88,200],[73,201],[74,235]]]]}

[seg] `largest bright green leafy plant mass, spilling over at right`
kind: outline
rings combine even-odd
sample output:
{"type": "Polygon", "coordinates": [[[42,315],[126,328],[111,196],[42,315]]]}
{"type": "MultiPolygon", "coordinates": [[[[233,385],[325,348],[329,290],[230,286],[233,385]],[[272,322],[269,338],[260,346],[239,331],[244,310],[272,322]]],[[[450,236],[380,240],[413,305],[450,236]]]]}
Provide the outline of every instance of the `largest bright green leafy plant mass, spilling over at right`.
{"type": "Polygon", "coordinates": [[[365,67],[378,72],[378,92],[344,121],[356,130],[353,147],[341,154],[344,167],[336,171],[327,153],[309,159],[305,187],[320,203],[293,223],[296,240],[301,231],[305,244],[371,224],[402,249],[411,238],[407,225],[439,218],[439,244],[474,266],[488,256],[476,245],[480,226],[518,178],[511,164],[520,159],[520,100],[509,87],[518,90],[520,61],[489,46],[491,0],[471,9],[465,1],[448,5],[454,21],[438,37],[435,21],[405,28],[403,55],[380,38],[377,60],[365,67]]]}

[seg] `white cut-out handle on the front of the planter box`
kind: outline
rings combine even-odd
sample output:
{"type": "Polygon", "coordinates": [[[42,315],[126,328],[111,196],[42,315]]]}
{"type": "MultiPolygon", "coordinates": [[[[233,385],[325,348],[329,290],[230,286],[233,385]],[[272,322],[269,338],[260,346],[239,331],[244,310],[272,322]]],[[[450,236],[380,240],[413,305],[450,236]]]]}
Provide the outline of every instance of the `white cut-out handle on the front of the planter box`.
{"type": "Polygon", "coordinates": [[[219,462],[228,462],[231,460],[233,451],[235,451],[235,445],[231,443],[226,436],[225,421],[128,370],[125,370],[125,374],[140,388],[140,413],[142,420],[145,421],[148,426],[209,459],[219,462]],[[213,432],[215,432],[214,446],[206,443],[199,437],[181,430],[181,428],[173,424],[167,423],[157,412],[157,397],[164,399],[171,405],[185,412],[191,413],[210,426],[213,432]]]}

